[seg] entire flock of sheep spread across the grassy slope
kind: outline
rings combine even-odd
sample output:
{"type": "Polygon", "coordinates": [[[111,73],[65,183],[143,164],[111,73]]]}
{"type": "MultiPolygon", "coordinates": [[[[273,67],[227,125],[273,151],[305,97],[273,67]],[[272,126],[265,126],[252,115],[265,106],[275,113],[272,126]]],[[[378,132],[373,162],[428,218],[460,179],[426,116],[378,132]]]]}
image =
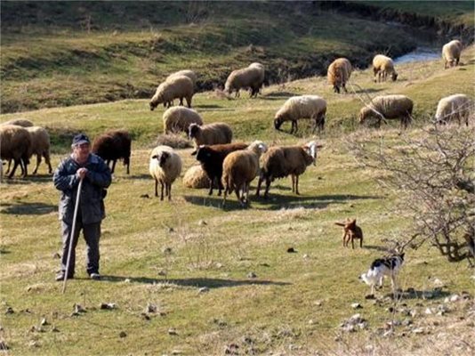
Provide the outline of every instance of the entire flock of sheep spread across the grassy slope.
{"type": "MultiPolygon", "coordinates": [[[[445,68],[456,66],[460,59],[462,44],[460,41],[451,41],[443,46],[442,57],[445,68]]],[[[374,82],[385,81],[391,77],[397,80],[398,73],[394,62],[387,56],[378,54],[373,60],[374,82]]],[[[351,63],[346,58],[339,58],[330,64],[327,70],[327,79],[333,85],[334,92],[347,92],[346,84],[351,75],[351,63]]],[[[224,92],[236,93],[239,96],[241,89],[249,90],[250,96],[255,97],[262,90],[265,69],[261,63],[252,63],[245,69],[231,72],[225,85],[224,92]]],[[[223,206],[227,195],[234,191],[242,206],[249,204],[249,185],[257,176],[259,182],[256,195],[260,194],[262,182],[265,182],[264,197],[269,194],[270,183],[275,179],[288,175],[292,177],[292,191],[299,194],[299,176],[307,166],[315,164],[318,148],[317,142],[308,142],[304,145],[268,147],[260,141],[251,144],[232,142],[233,133],[226,123],[204,124],[203,118],[191,108],[193,94],[197,84],[197,75],[192,70],[181,70],[166,77],[158,85],[156,93],[149,102],[150,109],[163,104],[168,108],[163,115],[164,134],[186,133],[195,145],[197,162],[200,166],[192,166],[184,174],[183,182],[189,188],[218,189],[218,195],[224,190],[223,206]],[[184,106],[173,107],[173,101],[186,101],[184,106]]],[[[439,101],[435,119],[438,122],[458,120],[468,125],[471,100],[467,95],[455,94],[439,101]]],[[[405,95],[376,96],[371,103],[360,109],[359,122],[364,123],[368,118],[375,118],[380,125],[384,119],[399,118],[403,127],[407,127],[412,120],[414,103],[405,95]]],[[[289,98],[278,109],[274,117],[274,127],[279,130],[285,122],[291,122],[291,134],[296,133],[297,122],[300,119],[310,119],[314,131],[321,131],[325,126],[326,100],[318,95],[300,95],[289,98]]],[[[28,120],[12,120],[0,125],[1,158],[14,165],[9,177],[20,166],[23,176],[28,173],[29,158],[36,155],[36,169],[43,157],[48,165],[50,174],[50,139],[43,127],[34,126],[28,120]]],[[[93,152],[105,159],[111,170],[117,159],[124,159],[129,174],[131,137],[125,130],[109,131],[96,137],[93,142],[93,152]]],[[[149,158],[149,173],[155,180],[155,195],[158,196],[158,183],[161,185],[160,198],[171,199],[173,182],[180,176],[182,162],[180,155],[171,147],[160,145],[152,150],[149,158]]]]}

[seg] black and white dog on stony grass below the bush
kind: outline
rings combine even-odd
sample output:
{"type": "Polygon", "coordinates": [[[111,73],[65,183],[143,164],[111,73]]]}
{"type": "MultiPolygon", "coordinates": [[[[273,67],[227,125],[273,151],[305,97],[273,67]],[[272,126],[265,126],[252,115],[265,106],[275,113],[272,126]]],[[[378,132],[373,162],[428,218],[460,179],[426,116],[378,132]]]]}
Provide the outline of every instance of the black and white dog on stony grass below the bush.
{"type": "Polygon", "coordinates": [[[392,293],[396,296],[398,286],[396,284],[396,276],[399,269],[404,263],[404,254],[392,255],[390,257],[378,258],[371,263],[371,267],[366,273],[359,276],[368,286],[371,286],[371,294],[374,295],[374,287],[382,287],[382,279],[390,277],[390,286],[392,293]]]}

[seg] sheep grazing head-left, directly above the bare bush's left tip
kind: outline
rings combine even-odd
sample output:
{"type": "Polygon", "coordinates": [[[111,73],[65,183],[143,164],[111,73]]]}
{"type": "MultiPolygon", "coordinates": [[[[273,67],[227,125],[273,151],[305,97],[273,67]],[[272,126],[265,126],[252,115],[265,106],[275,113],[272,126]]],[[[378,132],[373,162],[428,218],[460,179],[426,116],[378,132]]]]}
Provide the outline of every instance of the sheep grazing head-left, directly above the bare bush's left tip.
{"type": "Polygon", "coordinates": [[[359,111],[359,123],[363,124],[368,117],[378,119],[377,126],[382,119],[400,118],[401,126],[407,128],[412,121],[414,103],[406,95],[381,95],[359,111]]]}

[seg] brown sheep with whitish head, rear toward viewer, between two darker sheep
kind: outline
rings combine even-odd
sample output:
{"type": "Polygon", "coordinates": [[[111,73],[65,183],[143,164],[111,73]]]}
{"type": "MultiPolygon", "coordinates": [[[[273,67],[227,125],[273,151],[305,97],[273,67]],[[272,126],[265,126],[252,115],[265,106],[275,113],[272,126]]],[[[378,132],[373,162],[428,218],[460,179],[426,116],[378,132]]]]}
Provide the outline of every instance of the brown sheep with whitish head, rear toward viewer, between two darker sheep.
{"type": "Polygon", "coordinates": [[[259,174],[259,158],[267,151],[261,141],[254,141],[246,150],[229,153],[222,162],[222,185],[224,195],[222,206],[226,205],[227,195],[234,190],[241,206],[249,205],[249,185],[259,174]]]}

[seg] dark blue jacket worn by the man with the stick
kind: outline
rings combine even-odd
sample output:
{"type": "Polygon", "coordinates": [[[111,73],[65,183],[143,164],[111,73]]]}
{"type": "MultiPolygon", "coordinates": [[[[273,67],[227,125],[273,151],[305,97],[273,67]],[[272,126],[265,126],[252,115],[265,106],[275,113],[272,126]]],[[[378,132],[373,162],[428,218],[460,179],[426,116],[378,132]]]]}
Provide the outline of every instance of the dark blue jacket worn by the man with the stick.
{"type": "Polygon", "coordinates": [[[79,165],[73,158],[64,159],[54,172],[52,181],[57,190],[61,190],[60,196],[60,220],[64,223],[72,224],[74,207],[76,205],[77,187],[79,177],[76,172],[79,168],[87,168],[81,198],[79,199],[79,209],[83,224],[100,223],[106,216],[103,198],[105,189],[109,187],[112,180],[109,166],[93,153],[89,155],[85,165],[79,165]]]}

